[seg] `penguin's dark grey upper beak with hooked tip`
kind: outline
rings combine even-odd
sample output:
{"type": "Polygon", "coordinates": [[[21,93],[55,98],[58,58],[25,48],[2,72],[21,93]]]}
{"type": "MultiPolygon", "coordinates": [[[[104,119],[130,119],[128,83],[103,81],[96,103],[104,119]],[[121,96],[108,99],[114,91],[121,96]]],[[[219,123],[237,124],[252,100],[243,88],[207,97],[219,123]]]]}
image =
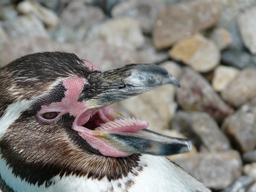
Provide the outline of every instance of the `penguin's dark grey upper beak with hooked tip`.
{"type": "Polygon", "coordinates": [[[101,108],[128,99],[161,85],[180,83],[165,69],[151,64],[130,64],[124,67],[92,73],[79,100],[90,108],[101,108]]]}

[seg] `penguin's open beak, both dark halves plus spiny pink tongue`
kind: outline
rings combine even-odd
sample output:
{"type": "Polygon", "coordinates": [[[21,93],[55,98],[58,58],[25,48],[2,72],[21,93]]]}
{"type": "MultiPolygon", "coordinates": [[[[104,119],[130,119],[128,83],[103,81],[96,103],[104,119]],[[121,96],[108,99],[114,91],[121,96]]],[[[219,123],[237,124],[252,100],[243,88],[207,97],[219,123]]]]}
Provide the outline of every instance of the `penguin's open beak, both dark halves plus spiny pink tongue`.
{"type": "MultiPolygon", "coordinates": [[[[150,64],[130,64],[102,73],[92,73],[87,79],[89,84],[85,85],[79,100],[83,100],[87,108],[96,110],[164,84],[180,87],[180,83],[166,69],[150,64]]],[[[190,140],[157,134],[146,130],[147,127],[145,121],[120,116],[115,121],[101,124],[93,130],[93,136],[126,154],[166,156],[191,150],[190,140]]]]}

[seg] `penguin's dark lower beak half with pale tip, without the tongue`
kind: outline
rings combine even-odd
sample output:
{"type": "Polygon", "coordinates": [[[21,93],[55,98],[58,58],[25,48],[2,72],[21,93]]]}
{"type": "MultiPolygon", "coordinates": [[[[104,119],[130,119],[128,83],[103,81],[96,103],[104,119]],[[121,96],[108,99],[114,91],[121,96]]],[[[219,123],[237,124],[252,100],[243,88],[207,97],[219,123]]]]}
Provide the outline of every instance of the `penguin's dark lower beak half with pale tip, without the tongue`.
{"type": "Polygon", "coordinates": [[[167,137],[146,129],[135,133],[94,131],[94,135],[128,154],[168,156],[186,153],[192,149],[190,140],[167,137]]]}

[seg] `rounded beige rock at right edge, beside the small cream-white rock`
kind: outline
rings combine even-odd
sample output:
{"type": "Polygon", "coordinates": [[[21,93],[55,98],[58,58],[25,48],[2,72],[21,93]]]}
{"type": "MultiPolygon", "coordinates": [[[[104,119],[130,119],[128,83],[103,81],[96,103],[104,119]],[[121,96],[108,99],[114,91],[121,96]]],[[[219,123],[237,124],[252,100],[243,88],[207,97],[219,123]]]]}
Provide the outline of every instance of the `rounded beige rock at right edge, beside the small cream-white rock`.
{"type": "Polygon", "coordinates": [[[244,68],[221,92],[230,105],[239,107],[256,96],[256,69],[244,68]]]}

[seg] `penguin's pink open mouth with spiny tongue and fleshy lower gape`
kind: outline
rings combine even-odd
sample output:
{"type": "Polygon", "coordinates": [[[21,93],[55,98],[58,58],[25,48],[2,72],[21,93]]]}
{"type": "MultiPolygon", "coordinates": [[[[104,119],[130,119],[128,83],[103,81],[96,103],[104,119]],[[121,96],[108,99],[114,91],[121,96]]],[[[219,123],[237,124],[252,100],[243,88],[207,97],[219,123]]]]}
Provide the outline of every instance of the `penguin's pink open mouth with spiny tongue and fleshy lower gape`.
{"type": "Polygon", "coordinates": [[[94,130],[135,133],[146,129],[148,123],[134,118],[125,118],[116,115],[110,107],[99,110],[87,110],[75,120],[73,129],[86,140],[93,148],[96,148],[104,156],[121,157],[128,156],[127,153],[111,146],[94,136],[94,130]]]}

